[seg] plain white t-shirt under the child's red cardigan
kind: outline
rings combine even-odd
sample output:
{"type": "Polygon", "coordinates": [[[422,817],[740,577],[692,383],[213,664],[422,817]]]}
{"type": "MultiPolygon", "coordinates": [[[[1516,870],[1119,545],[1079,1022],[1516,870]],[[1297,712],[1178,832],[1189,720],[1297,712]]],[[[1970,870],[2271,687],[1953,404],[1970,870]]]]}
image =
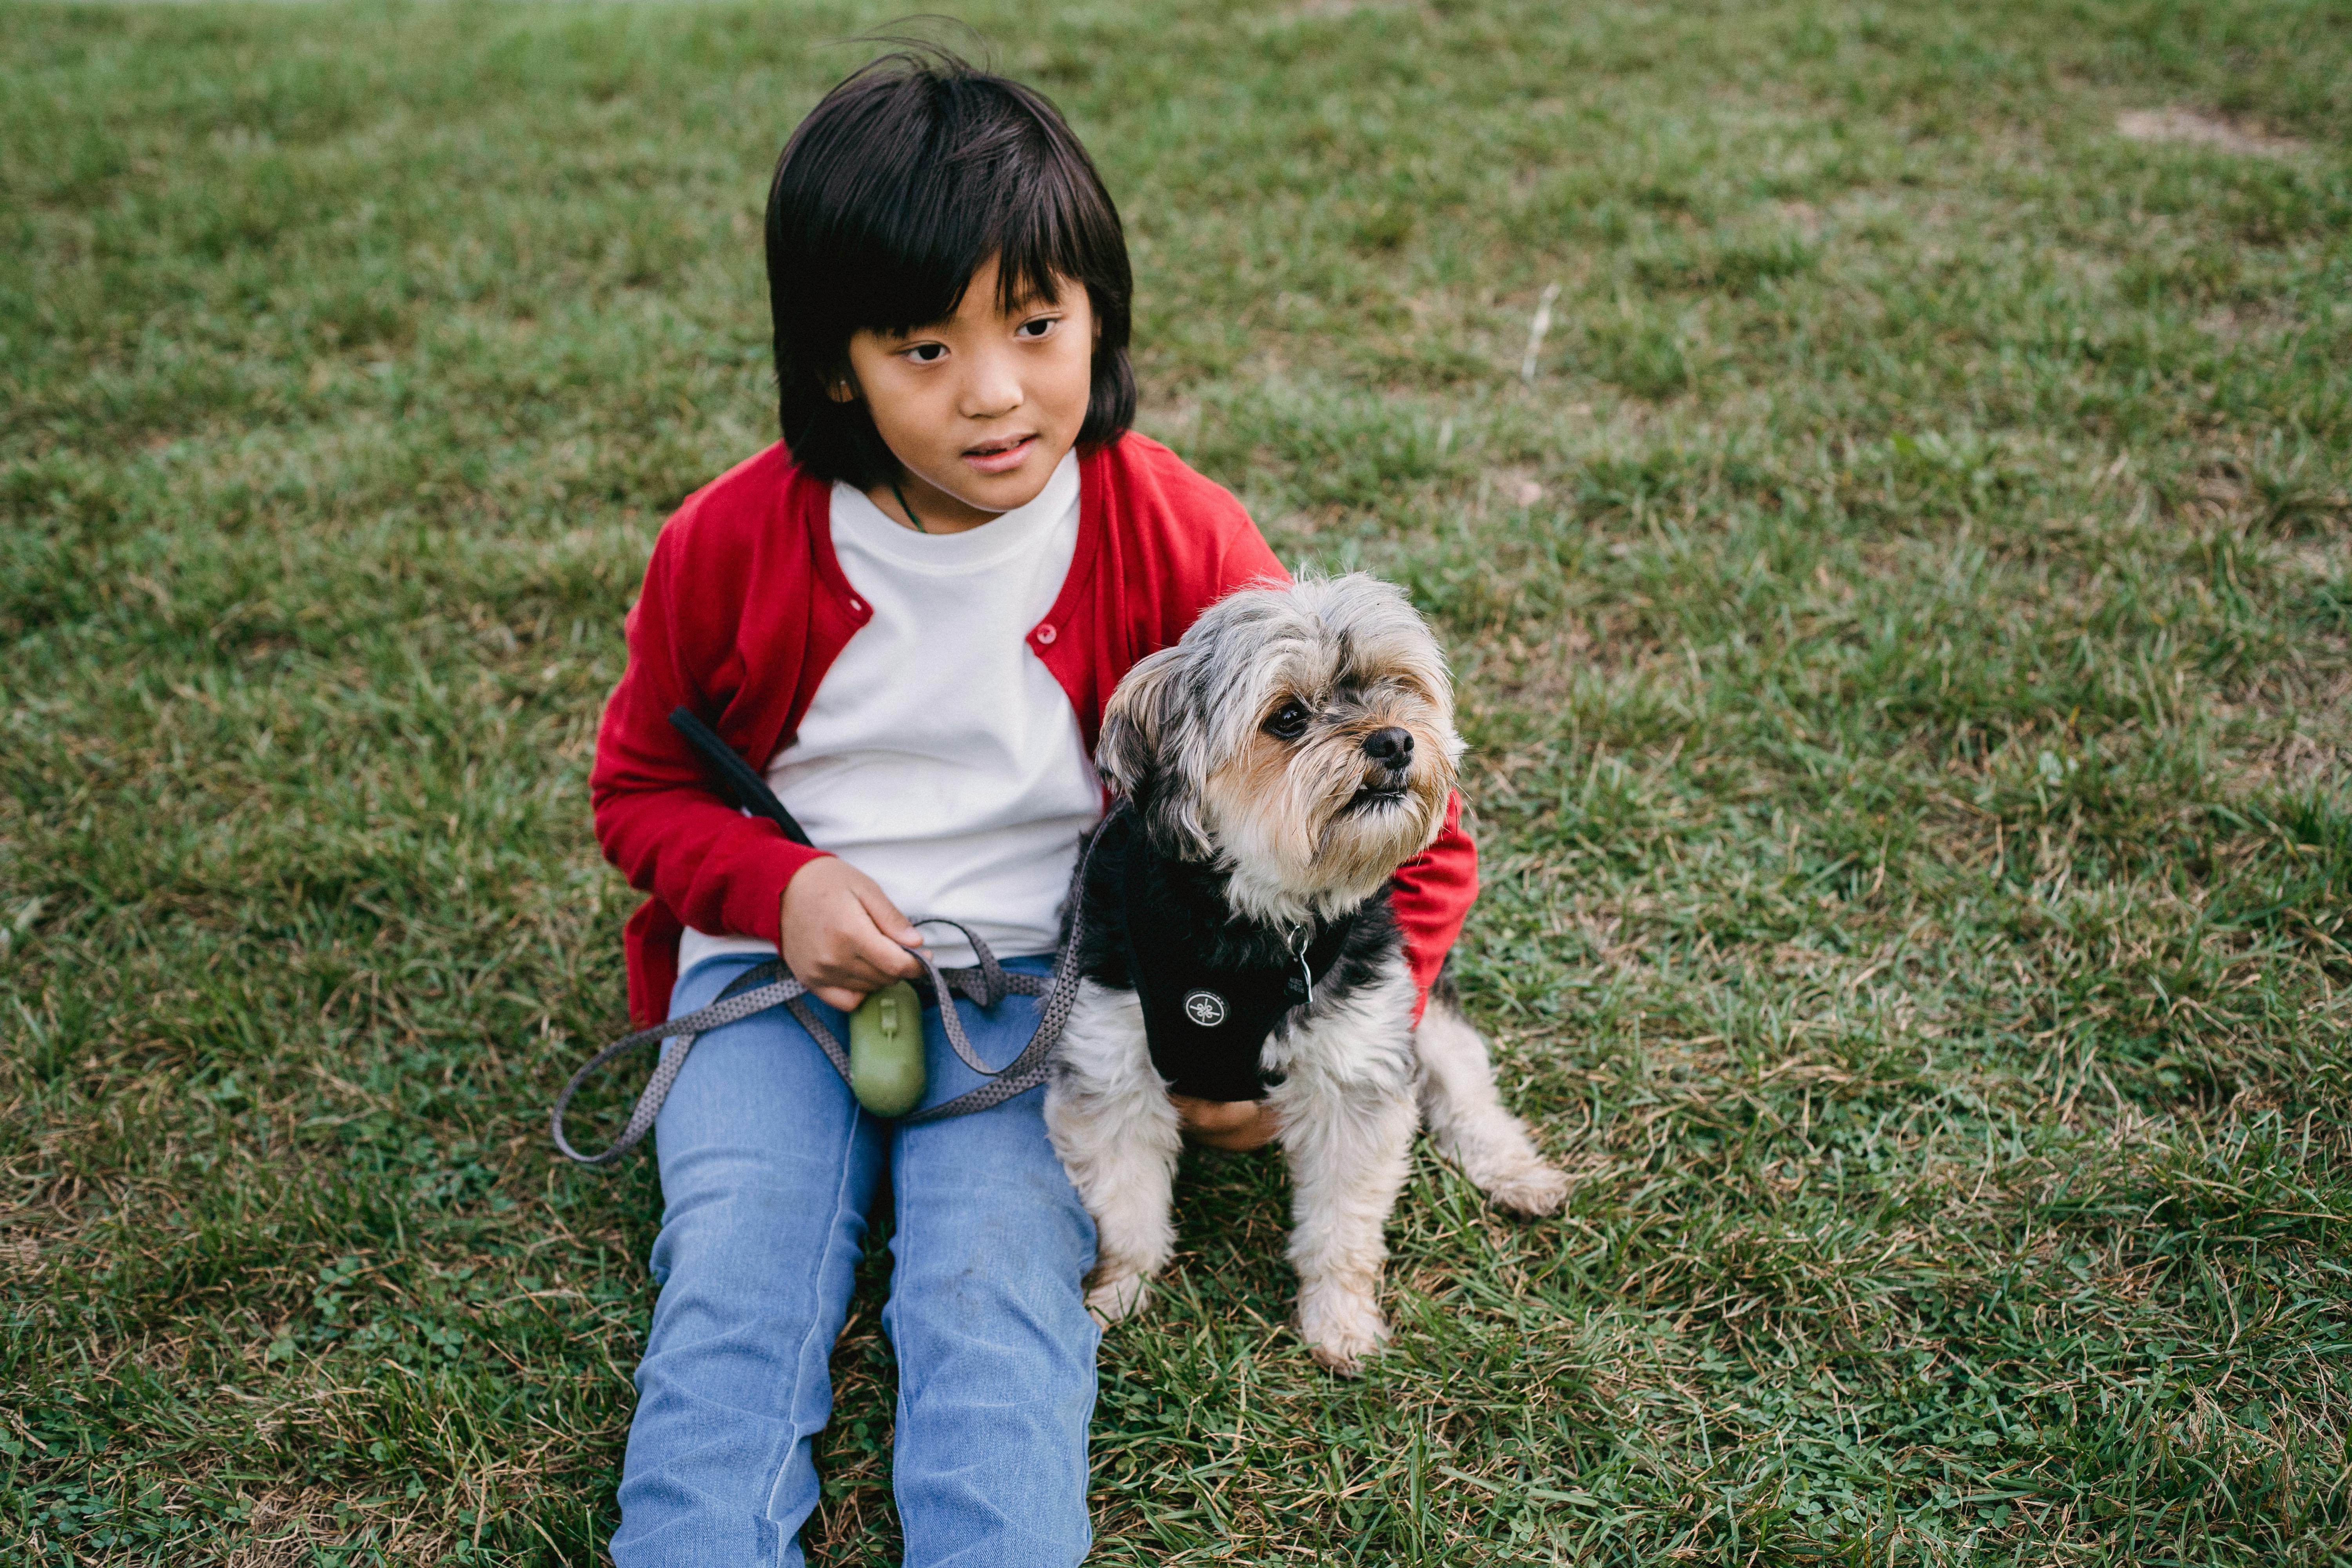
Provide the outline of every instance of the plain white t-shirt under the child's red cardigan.
{"type": "MultiPolygon", "coordinates": [[[[915,534],[835,484],[833,552],[873,618],[769,759],[769,788],[908,919],[960,919],[997,957],[1051,952],[1077,837],[1103,813],[1070,693],[1028,646],[1077,552],[1077,456],[964,534],[915,534]]],[[[943,969],[971,964],[953,926],[922,938],[943,969]]],[[[677,971],[722,952],[776,950],[689,929],[677,971]]]]}

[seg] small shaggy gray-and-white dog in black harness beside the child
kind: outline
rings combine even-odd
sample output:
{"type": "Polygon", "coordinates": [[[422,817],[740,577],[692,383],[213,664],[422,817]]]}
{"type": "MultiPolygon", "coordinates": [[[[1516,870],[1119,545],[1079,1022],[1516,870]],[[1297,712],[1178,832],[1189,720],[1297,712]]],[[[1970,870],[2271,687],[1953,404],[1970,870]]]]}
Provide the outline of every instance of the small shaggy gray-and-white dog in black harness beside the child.
{"type": "Polygon", "coordinates": [[[1237,590],[1112,691],[1096,769],[1115,806],[1087,849],[1044,1100],[1096,1222],[1103,1324],[1143,1307],[1176,1244],[1171,1093],[1270,1100],[1298,1331],[1341,1373],[1388,1340],[1381,1229],[1423,1119],[1503,1208],[1559,1208],[1566,1178],[1503,1107],[1449,985],[1414,1025],[1388,910],[1461,755],[1437,639],[1367,574],[1237,590]]]}

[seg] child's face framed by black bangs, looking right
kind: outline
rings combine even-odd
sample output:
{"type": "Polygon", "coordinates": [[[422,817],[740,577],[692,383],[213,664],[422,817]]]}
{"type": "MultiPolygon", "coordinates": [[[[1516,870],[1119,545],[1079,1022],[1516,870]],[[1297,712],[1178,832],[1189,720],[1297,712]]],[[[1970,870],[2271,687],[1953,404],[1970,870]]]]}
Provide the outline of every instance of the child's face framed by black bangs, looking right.
{"type": "Polygon", "coordinates": [[[1084,284],[1058,287],[1058,301],[1000,310],[990,256],[946,322],[849,339],[856,386],[844,393],[866,400],[906,465],[924,527],[971,529],[1035,501],[1077,444],[1094,386],[1094,308],[1084,284]]]}

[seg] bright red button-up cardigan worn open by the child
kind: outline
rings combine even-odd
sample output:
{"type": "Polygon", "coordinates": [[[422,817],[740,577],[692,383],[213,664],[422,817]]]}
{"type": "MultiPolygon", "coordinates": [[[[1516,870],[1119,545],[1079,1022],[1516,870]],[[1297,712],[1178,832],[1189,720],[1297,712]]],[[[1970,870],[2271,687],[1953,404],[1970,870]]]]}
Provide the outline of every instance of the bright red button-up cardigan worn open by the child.
{"type": "MultiPolygon", "coordinates": [[[[604,856],[652,898],[628,922],[628,1011],[670,1013],[684,926],[779,940],[783,889],[821,851],[710,792],[670,729],[684,703],[767,769],[835,656],[873,616],[833,555],[833,487],[769,447],[687,496],[628,611],[628,670],[604,705],[590,795],[604,856]]],[[[1082,458],[1077,552],[1028,644],[1094,750],[1103,703],[1145,654],[1225,592],[1287,581],[1242,503],[1141,435],[1082,458]]],[[[1477,898],[1477,849],[1446,806],[1392,905],[1423,999],[1477,898]]]]}

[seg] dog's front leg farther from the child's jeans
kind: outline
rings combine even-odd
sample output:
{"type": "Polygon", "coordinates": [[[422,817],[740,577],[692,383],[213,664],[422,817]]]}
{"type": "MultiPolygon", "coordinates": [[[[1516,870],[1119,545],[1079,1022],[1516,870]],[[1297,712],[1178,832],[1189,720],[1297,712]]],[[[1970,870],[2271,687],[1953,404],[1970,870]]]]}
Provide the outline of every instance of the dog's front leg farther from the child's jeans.
{"type": "MultiPolygon", "coordinates": [[[[1362,1032],[1364,1020],[1334,1020],[1362,1032]]],[[[1392,1053],[1305,1048],[1275,1088],[1282,1152],[1291,1166],[1291,1265],[1298,1269],[1298,1335],[1317,1361],[1357,1373],[1388,1342],[1381,1316],[1381,1227],[1411,1171],[1421,1119],[1404,1063],[1392,1053]],[[1388,1060],[1381,1060],[1385,1056],[1388,1060]]]]}

